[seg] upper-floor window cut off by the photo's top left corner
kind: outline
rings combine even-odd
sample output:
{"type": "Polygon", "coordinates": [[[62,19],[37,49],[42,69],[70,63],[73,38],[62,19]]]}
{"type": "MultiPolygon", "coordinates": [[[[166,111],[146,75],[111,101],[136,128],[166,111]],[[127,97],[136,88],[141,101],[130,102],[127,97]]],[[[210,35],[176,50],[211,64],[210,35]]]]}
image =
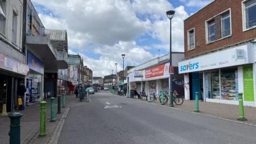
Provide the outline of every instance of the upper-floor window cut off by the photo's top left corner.
{"type": "Polygon", "coordinates": [[[0,33],[5,35],[6,1],[0,0],[0,33]]]}

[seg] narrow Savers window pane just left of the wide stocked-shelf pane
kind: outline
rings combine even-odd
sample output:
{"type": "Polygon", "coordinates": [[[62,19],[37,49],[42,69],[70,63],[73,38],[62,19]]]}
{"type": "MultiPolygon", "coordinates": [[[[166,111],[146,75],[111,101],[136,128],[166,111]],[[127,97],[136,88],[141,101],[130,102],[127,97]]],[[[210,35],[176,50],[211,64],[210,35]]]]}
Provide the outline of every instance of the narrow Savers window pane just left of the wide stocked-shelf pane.
{"type": "Polygon", "coordinates": [[[212,73],[212,99],[220,99],[219,73],[212,73]]]}

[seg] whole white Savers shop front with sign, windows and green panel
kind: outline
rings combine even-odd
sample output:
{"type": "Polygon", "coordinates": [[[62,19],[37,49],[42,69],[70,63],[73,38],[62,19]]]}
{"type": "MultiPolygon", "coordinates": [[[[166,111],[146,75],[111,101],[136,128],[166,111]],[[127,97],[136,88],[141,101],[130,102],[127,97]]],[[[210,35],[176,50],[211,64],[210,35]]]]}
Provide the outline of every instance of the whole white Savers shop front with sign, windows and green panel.
{"type": "Polygon", "coordinates": [[[194,100],[199,92],[206,102],[238,105],[242,92],[245,105],[255,106],[254,49],[247,44],[180,62],[179,73],[187,73],[189,83],[185,98],[194,100]]]}

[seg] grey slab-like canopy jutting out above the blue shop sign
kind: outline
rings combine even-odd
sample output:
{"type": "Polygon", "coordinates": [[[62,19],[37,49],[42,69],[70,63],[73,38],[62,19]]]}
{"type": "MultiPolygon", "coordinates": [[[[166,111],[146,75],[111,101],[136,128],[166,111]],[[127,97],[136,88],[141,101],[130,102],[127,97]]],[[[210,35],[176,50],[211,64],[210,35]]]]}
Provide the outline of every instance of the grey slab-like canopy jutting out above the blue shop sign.
{"type": "Polygon", "coordinates": [[[34,51],[43,60],[57,60],[57,55],[47,36],[26,36],[29,49],[34,51]]]}

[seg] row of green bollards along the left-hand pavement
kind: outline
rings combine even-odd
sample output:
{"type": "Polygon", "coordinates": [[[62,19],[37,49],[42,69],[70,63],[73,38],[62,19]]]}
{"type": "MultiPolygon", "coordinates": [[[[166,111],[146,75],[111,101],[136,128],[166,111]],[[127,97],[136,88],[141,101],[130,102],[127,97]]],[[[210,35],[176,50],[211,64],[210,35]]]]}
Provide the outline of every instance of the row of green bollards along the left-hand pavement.
{"type": "MultiPolygon", "coordinates": [[[[40,129],[38,137],[44,137],[47,135],[46,133],[46,101],[40,102],[40,129]]],[[[58,95],[58,113],[61,114],[61,100],[60,95],[58,95]]],[[[62,107],[66,107],[65,94],[62,96],[62,107]]],[[[21,113],[10,113],[9,118],[11,119],[10,124],[10,144],[19,144],[20,143],[20,118],[22,116],[21,113]]],[[[51,119],[50,122],[55,122],[55,105],[54,98],[51,98],[51,119]]]]}

